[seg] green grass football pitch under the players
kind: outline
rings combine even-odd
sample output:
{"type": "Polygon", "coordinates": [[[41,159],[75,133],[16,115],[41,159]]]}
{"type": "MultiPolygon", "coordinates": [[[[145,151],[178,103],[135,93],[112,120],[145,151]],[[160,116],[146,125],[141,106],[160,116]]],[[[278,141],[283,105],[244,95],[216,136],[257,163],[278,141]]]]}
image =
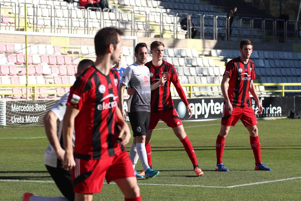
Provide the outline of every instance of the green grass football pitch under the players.
{"type": "MultiPolygon", "coordinates": [[[[262,162],[272,171],[254,171],[249,134],[240,121],[225,141],[223,162],[229,172],[215,171],[220,121],[183,124],[204,176],[195,176],[182,143],[159,123],[151,146],[153,168],[160,174],[138,179],[142,200],[301,200],[301,120],[258,121],[262,162]]],[[[25,192],[61,196],[44,166],[47,145],[43,127],[0,128],[0,200],[20,200],[25,192]]],[[[141,171],[140,161],[136,169],[141,171]]],[[[112,183],[93,200],[124,199],[112,183]]]]}

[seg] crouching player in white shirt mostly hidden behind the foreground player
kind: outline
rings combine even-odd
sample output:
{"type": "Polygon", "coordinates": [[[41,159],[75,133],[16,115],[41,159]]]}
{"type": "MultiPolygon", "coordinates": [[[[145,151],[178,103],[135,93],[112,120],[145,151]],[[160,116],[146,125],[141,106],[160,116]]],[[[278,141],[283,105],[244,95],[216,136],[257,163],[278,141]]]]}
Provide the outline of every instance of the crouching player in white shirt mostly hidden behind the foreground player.
{"type": "MultiPolygon", "coordinates": [[[[79,77],[86,69],[94,64],[90,59],[84,59],[77,66],[75,77],[79,77]]],[[[49,145],[45,151],[44,163],[53,178],[55,184],[60,189],[64,197],[41,197],[31,193],[23,194],[23,201],[73,201],[73,183],[71,171],[64,170],[62,161],[64,159],[64,143],[63,143],[63,118],[66,112],[66,103],[69,92],[46,113],[44,116],[44,127],[49,145]]],[[[73,133],[73,143],[75,135],[73,133]]]]}

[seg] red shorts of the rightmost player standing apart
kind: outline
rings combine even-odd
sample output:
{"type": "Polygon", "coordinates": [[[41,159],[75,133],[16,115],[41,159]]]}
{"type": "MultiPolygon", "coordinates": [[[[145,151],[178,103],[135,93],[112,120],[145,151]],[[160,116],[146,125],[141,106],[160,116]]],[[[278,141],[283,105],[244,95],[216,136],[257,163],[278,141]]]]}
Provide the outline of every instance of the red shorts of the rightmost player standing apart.
{"type": "Polygon", "coordinates": [[[255,112],[252,107],[249,108],[233,108],[232,115],[230,115],[225,110],[225,105],[223,107],[222,113],[222,125],[224,126],[235,126],[238,120],[243,122],[244,126],[255,126],[257,125],[257,119],[255,112]]]}

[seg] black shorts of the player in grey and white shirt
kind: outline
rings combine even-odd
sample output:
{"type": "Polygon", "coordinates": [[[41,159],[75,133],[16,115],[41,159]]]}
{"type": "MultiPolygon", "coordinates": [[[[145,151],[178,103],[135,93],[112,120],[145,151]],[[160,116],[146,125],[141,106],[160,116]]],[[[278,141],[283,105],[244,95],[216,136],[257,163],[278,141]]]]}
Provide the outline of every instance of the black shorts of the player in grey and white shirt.
{"type": "Polygon", "coordinates": [[[133,111],[129,112],[129,119],[133,130],[133,136],[146,135],[148,125],[150,123],[151,112],[133,111]]]}

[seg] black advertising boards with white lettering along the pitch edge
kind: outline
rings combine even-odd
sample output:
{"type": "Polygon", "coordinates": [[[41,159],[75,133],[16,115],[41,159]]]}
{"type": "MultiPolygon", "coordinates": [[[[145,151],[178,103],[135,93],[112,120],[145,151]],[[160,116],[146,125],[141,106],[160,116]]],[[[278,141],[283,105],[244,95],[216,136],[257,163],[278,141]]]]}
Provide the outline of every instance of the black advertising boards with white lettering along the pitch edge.
{"type": "MultiPolygon", "coordinates": [[[[262,102],[262,114],[256,114],[257,118],[284,118],[290,115],[290,111],[301,110],[301,97],[259,97],[262,102]],[[292,104],[293,103],[293,104],[292,104]]],[[[220,119],[223,111],[223,98],[199,98],[188,99],[193,109],[192,118],[186,111],[181,99],[174,99],[174,105],[182,120],[212,120],[220,119]]],[[[36,101],[0,101],[0,125],[34,125],[43,124],[43,116],[56,103],[54,100],[36,101]]],[[[251,105],[255,112],[257,104],[251,98],[251,105]]],[[[127,112],[127,100],[124,102],[127,112]]],[[[127,119],[129,121],[129,119],[127,119]]]]}

